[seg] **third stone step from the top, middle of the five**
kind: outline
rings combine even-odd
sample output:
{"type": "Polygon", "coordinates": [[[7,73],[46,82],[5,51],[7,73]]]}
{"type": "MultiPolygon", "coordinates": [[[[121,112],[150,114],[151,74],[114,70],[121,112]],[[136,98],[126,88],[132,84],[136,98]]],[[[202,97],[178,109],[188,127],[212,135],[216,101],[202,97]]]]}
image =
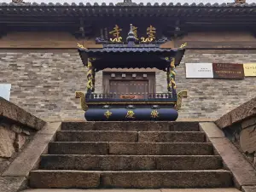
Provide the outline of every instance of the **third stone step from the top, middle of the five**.
{"type": "Polygon", "coordinates": [[[49,154],[209,155],[212,143],[49,143],[49,154]]]}

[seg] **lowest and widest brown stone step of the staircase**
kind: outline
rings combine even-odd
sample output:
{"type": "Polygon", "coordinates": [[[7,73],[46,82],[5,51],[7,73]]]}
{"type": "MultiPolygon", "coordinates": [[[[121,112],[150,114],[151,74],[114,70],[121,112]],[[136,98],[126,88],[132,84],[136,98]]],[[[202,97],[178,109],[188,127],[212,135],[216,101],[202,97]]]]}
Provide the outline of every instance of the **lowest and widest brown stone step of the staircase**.
{"type": "Polygon", "coordinates": [[[30,172],[31,188],[228,188],[229,171],[55,171],[30,172]]]}

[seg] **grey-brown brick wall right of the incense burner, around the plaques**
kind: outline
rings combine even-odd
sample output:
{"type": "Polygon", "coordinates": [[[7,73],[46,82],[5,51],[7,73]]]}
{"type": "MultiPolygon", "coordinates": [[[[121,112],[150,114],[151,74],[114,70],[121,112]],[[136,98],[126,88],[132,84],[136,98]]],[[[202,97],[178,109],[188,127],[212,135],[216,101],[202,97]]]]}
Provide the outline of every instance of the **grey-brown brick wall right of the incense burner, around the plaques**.
{"type": "MultiPolygon", "coordinates": [[[[246,77],[243,80],[186,79],[186,62],[256,62],[256,51],[255,54],[241,51],[224,54],[220,51],[213,52],[188,50],[180,66],[176,68],[177,91],[188,90],[188,98],[183,98],[179,111],[181,119],[218,119],[256,96],[256,77],[246,77]]],[[[156,79],[157,91],[166,90],[166,73],[158,72],[156,79]]]]}

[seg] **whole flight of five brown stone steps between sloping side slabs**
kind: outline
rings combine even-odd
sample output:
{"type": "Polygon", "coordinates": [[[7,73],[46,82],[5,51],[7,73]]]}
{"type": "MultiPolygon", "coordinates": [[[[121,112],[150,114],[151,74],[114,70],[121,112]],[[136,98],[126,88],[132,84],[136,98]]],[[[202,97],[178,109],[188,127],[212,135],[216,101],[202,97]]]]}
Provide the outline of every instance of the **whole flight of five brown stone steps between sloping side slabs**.
{"type": "Polygon", "coordinates": [[[231,172],[196,122],[65,122],[36,189],[230,188],[231,172]]]}

